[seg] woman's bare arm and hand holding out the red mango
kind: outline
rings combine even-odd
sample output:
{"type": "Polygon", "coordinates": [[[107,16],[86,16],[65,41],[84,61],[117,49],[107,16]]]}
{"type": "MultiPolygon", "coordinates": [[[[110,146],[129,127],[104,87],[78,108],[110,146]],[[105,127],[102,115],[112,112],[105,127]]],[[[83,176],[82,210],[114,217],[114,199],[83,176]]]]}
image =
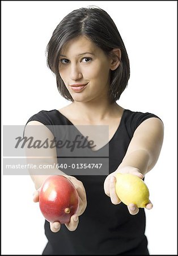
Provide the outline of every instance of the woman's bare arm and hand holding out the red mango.
{"type": "MultiPolygon", "coordinates": [[[[44,142],[46,138],[48,141],[53,141],[54,138],[52,132],[39,121],[30,121],[27,123],[26,129],[24,131],[24,137],[32,137],[34,142],[44,142]]],[[[69,224],[65,225],[70,231],[77,229],[79,223],[78,217],[87,207],[86,191],[84,189],[83,183],[73,176],[66,175],[64,172],[57,168],[56,147],[34,148],[26,146],[26,159],[27,163],[31,164],[31,167],[36,166],[36,168],[30,168],[28,170],[36,188],[36,191],[33,193],[33,201],[35,203],[39,201],[39,191],[41,185],[49,176],[63,175],[73,183],[79,195],[79,209],[76,214],[71,216],[69,224]],[[53,168],[45,168],[46,166],[53,168]]],[[[52,232],[58,232],[60,228],[60,222],[50,223],[50,229],[52,232]]]]}

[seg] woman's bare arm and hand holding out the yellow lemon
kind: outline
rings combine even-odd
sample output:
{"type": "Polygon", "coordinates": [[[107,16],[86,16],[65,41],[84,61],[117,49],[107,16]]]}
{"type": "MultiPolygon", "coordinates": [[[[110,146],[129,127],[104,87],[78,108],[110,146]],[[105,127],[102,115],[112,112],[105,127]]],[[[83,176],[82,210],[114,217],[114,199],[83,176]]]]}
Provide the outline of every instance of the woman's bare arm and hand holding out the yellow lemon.
{"type": "MultiPolygon", "coordinates": [[[[155,166],[159,158],[163,136],[164,125],[159,118],[148,118],[137,127],[121,164],[104,181],[104,192],[111,197],[113,204],[121,203],[115,191],[115,174],[117,172],[131,173],[142,179],[155,166]]],[[[152,208],[151,202],[146,208],[152,208]]],[[[135,205],[129,205],[128,209],[130,214],[138,213],[135,205]]]]}

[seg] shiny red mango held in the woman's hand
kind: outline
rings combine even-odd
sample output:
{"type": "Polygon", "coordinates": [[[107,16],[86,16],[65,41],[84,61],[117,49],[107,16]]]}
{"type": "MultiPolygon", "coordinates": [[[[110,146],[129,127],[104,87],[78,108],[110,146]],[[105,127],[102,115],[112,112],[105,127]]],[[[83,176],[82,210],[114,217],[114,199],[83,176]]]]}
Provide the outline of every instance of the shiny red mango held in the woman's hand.
{"type": "Polygon", "coordinates": [[[41,186],[39,206],[46,220],[64,224],[77,213],[79,196],[69,179],[62,175],[53,175],[48,177],[41,186]]]}

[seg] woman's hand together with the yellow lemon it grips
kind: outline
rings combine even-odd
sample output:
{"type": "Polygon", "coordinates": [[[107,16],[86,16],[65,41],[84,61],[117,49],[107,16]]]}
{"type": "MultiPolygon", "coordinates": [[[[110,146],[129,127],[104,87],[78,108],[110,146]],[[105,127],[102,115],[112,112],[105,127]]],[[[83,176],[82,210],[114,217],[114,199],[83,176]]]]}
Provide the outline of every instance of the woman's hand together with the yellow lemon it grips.
{"type": "Polygon", "coordinates": [[[104,182],[104,191],[111,197],[113,204],[122,202],[128,206],[130,214],[137,214],[139,208],[152,208],[149,189],[142,178],[143,175],[137,168],[124,167],[120,172],[108,175],[104,182]]]}

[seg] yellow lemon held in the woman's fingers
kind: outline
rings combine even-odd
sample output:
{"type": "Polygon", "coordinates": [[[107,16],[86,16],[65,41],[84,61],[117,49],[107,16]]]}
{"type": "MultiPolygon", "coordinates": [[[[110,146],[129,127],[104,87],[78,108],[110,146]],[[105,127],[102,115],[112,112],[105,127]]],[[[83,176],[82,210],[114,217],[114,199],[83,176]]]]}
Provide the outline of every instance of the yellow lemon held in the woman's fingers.
{"type": "Polygon", "coordinates": [[[149,203],[149,189],[145,182],[133,174],[116,174],[116,193],[122,203],[144,208],[149,203]]]}

